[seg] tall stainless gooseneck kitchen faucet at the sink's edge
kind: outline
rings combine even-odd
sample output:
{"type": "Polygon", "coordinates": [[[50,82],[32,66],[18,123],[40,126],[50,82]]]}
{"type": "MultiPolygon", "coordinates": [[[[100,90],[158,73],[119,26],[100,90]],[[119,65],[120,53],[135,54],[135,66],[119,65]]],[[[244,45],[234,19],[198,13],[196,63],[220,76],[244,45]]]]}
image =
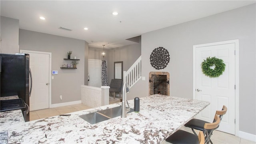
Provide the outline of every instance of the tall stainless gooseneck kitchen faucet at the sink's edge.
{"type": "Polygon", "coordinates": [[[128,100],[126,100],[126,92],[129,92],[129,85],[127,82],[124,82],[123,84],[123,100],[122,100],[122,112],[121,112],[121,118],[126,118],[126,113],[130,111],[130,106],[128,104],[128,100]],[[127,102],[128,108],[125,106],[125,102],[127,102]]]}

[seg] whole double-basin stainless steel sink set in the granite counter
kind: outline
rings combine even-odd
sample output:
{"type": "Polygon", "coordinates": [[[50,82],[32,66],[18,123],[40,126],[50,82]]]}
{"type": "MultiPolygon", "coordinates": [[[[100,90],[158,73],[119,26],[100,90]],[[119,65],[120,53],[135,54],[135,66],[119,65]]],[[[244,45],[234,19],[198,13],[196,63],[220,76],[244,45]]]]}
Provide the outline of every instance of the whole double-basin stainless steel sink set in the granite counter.
{"type": "MultiPolygon", "coordinates": [[[[90,124],[96,124],[104,120],[109,120],[110,118],[121,116],[121,111],[122,111],[121,106],[118,106],[115,108],[109,108],[106,110],[101,110],[101,111],[93,112],[90,114],[84,114],[80,116],[80,118],[86,120],[90,124]]],[[[134,112],[134,109],[131,108],[128,113],[130,112],[134,112]]]]}

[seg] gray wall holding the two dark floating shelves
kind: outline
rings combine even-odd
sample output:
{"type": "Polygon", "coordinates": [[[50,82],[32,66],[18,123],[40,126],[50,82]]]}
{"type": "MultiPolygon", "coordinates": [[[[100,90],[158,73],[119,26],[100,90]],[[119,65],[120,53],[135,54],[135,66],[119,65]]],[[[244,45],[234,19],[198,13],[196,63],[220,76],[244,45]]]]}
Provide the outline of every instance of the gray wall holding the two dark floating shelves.
{"type": "MultiPolygon", "coordinates": [[[[20,49],[52,53],[52,70],[58,70],[52,80],[52,104],[81,100],[81,85],[84,85],[85,50],[88,46],[84,40],[33,32],[20,29],[20,49]],[[67,52],[72,51],[71,58],[80,59],[77,69],[61,69],[62,64],[71,61],[67,52]],[[60,100],[62,95],[62,100],[60,100]]],[[[88,49],[88,48],[87,48],[88,49]]],[[[87,64],[88,65],[88,64],[87,64]]]]}

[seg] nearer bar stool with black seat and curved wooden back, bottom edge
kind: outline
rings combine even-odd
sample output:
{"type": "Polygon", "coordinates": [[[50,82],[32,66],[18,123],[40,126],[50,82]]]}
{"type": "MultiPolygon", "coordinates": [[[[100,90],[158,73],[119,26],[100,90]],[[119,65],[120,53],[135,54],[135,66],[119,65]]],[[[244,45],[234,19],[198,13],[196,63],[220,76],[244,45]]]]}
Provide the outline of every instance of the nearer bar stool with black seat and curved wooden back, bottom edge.
{"type": "Polygon", "coordinates": [[[204,124],[204,130],[202,131],[203,134],[199,133],[199,136],[190,132],[186,132],[184,130],[178,130],[177,132],[174,132],[174,134],[166,138],[166,142],[170,142],[172,144],[208,144],[210,142],[209,136],[212,134],[213,130],[216,129],[220,124],[220,117],[218,115],[215,115],[214,120],[215,122],[213,123],[204,124]],[[201,140],[199,139],[199,137],[201,140]],[[202,138],[204,138],[205,140],[202,141],[202,138]]]}

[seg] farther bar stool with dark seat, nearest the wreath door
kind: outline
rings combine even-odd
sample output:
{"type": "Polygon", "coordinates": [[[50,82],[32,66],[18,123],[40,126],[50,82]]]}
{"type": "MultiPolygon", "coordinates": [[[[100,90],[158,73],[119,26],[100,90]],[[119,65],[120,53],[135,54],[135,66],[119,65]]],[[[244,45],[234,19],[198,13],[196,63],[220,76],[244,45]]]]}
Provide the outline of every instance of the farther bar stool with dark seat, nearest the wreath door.
{"type": "MultiPolygon", "coordinates": [[[[227,110],[228,110],[228,108],[227,108],[226,106],[223,106],[223,107],[222,107],[222,110],[216,110],[216,113],[215,113],[215,114],[219,115],[220,121],[222,120],[222,116],[223,116],[224,114],[226,114],[227,110]]],[[[213,122],[214,122],[214,121],[213,121],[213,122]]],[[[210,123],[210,122],[206,122],[206,121],[204,121],[204,120],[199,120],[199,119],[193,118],[192,120],[188,121],[184,126],[186,126],[186,127],[188,127],[188,128],[191,128],[192,131],[194,132],[194,134],[197,135],[194,129],[203,131],[203,130],[204,130],[204,124],[205,124],[205,123],[210,123]]],[[[219,127],[219,126],[218,126],[218,127],[219,127]]],[[[218,127],[217,127],[217,128],[218,128],[218,127]]],[[[211,136],[210,136],[210,137],[211,137],[211,136]]],[[[211,140],[210,140],[210,142],[211,142],[211,144],[212,144],[212,141],[211,141],[211,140]]]]}

